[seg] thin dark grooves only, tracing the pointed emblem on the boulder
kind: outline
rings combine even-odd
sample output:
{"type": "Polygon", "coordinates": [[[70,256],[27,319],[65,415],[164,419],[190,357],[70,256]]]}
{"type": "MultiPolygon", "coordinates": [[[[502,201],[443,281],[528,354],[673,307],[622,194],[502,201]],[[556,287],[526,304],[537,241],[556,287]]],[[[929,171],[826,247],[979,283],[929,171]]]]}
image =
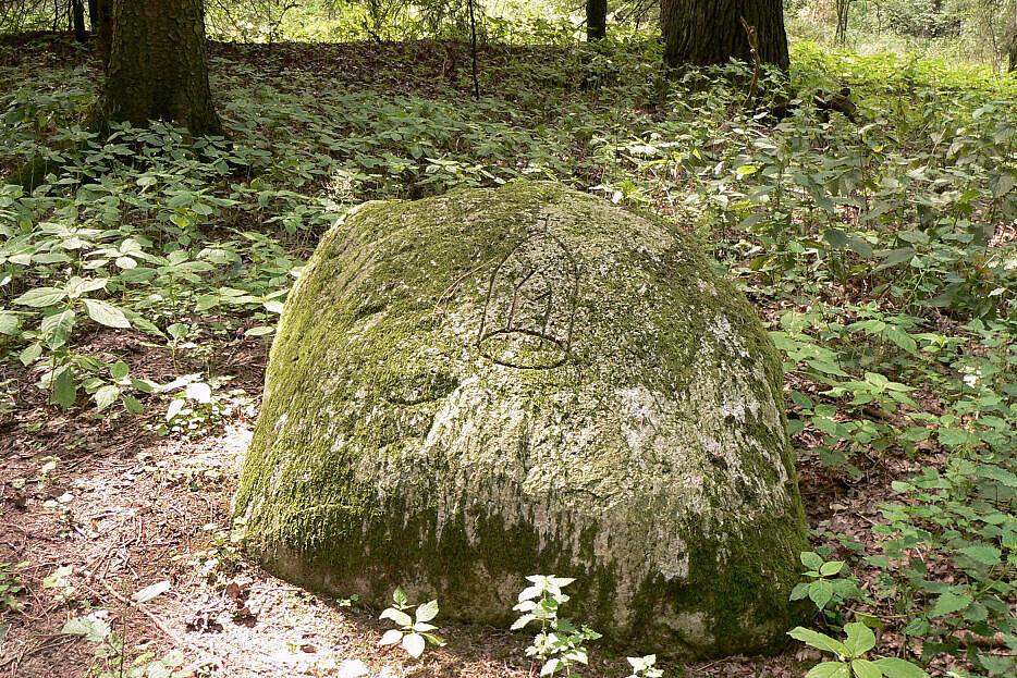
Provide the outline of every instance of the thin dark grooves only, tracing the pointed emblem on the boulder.
{"type": "MultiPolygon", "coordinates": [[[[555,221],[559,221],[559,220],[555,220],[555,221]]],[[[561,238],[559,238],[551,232],[551,229],[550,229],[551,223],[552,223],[551,215],[544,214],[540,217],[537,222],[537,226],[538,227],[542,226],[542,229],[540,229],[540,231],[537,231],[537,232],[535,232],[535,230],[531,230],[529,233],[527,233],[522,239],[519,239],[518,243],[516,243],[515,247],[513,247],[508,251],[508,254],[506,254],[505,257],[502,258],[502,260],[498,263],[498,266],[494,267],[494,270],[491,272],[491,278],[490,278],[490,281],[488,282],[488,291],[487,291],[487,296],[486,296],[485,306],[483,306],[483,315],[480,320],[480,331],[477,335],[477,346],[480,349],[481,355],[483,355],[489,360],[492,360],[493,362],[498,365],[503,365],[505,367],[513,367],[517,369],[553,369],[556,367],[561,367],[568,359],[569,349],[572,347],[572,334],[573,334],[573,329],[575,325],[576,306],[577,306],[577,301],[579,298],[579,264],[576,261],[576,258],[573,255],[573,252],[565,245],[565,243],[562,242],[561,238]],[[488,324],[491,322],[491,320],[493,320],[490,317],[491,305],[492,305],[492,301],[494,301],[494,287],[495,287],[495,284],[498,283],[499,276],[501,275],[503,269],[505,268],[505,264],[510,260],[512,260],[512,258],[517,252],[519,252],[524,248],[524,246],[531,243],[535,239],[535,236],[548,237],[549,239],[551,239],[554,243],[554,245],[557,247],[559,256],[564,255],[564,258],[567,263],[566,266],[567,270],[565,273],[566,273],[566,276],[572,279],[572,289],[566,291],[565,293],[566,304],[568,307],[565,310],[568,313],[568,318],[567,318],[566,331],[565,331],[564,337],[554,336],[554,334],[549,332],[549,329],[548,329],[548,325],[551,322],[553,312],[555,311],[553,307],[554,282],[555,281],[553,281],[550,276],[547,278],[548,287],[546,288],[546,291],[543,291],[538,296],[529,297],[530,301],[546,303],[542,313],[541,313],[541,318],[540,318],[541,320],[540,326],[537,329],[530,329],[530,328],[522,328],[522,326],[515,325],[516,310],[519,304],[520,291],[525,288],[526,284],[530,281],[530,279],[534,275],[538,273],[542,273],[539,266],[528,267],[527,269],[524,269],[522,279],[516,279],[513,282],[512,298],[511,298],[510,306],[508,306],[507,322],[505,323],[505,326],[493,329],[493,330],[488,329],[488,324]],[[486,340],[490,340],[499,335],[507,336],[512,334],[523,334],[523,335],[536,337],[544,342],[550,342],[551,344],[557,347],[557,350],[561,352],[561,355],[553,361],[546,363],[546,365],[522,365],[518,362],[513,362],[512,360],[504,360],[500,358],[499,356],[485,350],[483,344],[486,340]]],[[[567,284],[567,281],[561,281],[561,282],[566,282],[567,284]]]]}

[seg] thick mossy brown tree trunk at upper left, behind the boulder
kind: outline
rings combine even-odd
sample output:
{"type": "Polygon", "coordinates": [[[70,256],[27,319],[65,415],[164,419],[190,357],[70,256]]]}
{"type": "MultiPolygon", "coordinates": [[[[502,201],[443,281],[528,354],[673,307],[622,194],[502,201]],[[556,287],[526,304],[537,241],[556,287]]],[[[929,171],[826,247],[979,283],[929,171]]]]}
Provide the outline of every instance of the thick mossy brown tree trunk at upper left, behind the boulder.
{"type": "Polygon", "coordinates": [[[195,135],[221,134],[208,86],[201,0],[114,0],[112,10],[94,126],[166,120],[195,135]]]}

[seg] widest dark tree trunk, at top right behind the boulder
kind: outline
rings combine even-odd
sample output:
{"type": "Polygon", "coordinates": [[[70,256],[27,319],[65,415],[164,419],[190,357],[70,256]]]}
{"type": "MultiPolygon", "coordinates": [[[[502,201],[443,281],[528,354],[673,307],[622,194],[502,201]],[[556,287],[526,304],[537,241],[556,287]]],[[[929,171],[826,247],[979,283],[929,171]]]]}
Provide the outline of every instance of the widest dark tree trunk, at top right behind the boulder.
{"type": "Polygon", "coordinates": [[[661,12],[664,61],[672,67],[727,63],[732,57],[752,61],[739,17],[756,28],[764,63],[785,71],[791,65],[782,0],[667,0],[661,12]]]}

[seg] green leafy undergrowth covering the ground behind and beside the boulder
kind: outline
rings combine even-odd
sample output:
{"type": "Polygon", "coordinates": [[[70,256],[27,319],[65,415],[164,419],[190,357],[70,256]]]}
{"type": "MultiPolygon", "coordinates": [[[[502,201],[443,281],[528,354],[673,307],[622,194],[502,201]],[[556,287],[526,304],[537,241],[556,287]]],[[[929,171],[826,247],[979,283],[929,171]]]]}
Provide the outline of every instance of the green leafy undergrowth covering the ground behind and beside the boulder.
{"type": "Polygon", "coordinates": [[[817,534],[867,583],[818,628],[862,619],[930,673],[1013,675],[1017,77],[798,44],[789,84],[745,106],[746,69],[665,87],[658,44],[628,40],[489,48],[474,100],[465,66],[436,87],[377,61],[338,84],[217,58],[231,138],[187,145],[164,125],[90,137],[96,72],[20,59],[0,66],[0,165],[63,169],[0,188],[0,350],[53,403],[157,403],[164,384],[94,349],[100,328],[174,352],[270,333],[350,206],[554,178],[698,235],[782,352],[801,463],[894,483],[871,540],[817,534]],[[854,121],[820,110],[844,86],[854,121]]]}

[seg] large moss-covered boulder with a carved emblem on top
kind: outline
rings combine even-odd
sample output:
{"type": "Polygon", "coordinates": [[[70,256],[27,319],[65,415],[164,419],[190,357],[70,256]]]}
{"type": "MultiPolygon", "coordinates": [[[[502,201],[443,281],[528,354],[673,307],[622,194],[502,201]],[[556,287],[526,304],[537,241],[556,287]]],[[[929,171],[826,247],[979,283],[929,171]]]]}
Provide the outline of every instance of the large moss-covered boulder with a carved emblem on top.
{"type": "Polygon", "coordinates": [[[774,648],[806,545],[781,367],[685,235],[553,184],[371,202],[290,294],[236,495],[270,571],[634,651],[774,648]]]}

